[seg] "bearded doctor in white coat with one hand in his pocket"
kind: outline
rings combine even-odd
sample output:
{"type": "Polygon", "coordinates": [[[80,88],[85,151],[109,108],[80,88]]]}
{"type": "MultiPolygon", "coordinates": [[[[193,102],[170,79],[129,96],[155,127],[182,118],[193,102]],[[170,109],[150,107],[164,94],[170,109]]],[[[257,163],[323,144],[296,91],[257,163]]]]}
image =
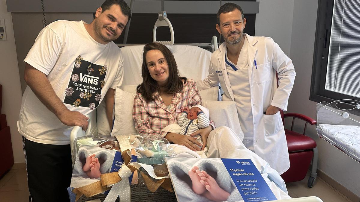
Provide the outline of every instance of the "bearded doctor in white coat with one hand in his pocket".
{"type": "Polygon", "coordinates": [[[292,61],[270,37],[243,33],[246,19],[240,6],[224,4],[217,19],[225,43],[213,52],[209,75],[197,86],[201,90],[220,84],[222,100],[237,104],[244,145],[282,174],[290,162],[279,109],[287,110],[296,75],[292,61]]]}

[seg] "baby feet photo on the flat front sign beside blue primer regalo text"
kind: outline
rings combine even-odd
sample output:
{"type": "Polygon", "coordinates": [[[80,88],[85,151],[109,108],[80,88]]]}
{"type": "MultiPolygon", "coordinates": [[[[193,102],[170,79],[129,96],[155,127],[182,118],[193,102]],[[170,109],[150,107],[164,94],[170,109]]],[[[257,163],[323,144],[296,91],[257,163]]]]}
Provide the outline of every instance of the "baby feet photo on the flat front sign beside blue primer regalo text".
{"type": "Polygon", "coordinates": [[[230,197],[231,193],[240,193],[221,159],[167,158],[166,164],[179,202],[241,199],[230,197]]]}

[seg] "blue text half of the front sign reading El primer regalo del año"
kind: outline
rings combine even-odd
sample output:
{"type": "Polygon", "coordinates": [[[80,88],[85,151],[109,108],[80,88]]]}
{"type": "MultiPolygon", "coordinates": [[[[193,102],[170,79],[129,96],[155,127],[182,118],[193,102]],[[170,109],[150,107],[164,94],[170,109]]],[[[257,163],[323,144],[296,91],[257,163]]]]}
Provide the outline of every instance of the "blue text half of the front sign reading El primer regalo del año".
{"type": "Polygon", "coordinates": [[[221,159],[245,202],[277,200],[250,159],[221,159]]]}

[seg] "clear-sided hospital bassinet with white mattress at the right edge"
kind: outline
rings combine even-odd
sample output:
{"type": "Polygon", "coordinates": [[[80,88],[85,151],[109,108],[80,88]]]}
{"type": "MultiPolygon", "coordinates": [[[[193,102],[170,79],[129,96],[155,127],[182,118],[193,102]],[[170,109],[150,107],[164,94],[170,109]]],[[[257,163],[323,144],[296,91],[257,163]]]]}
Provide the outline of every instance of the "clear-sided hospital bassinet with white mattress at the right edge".
{"type": "Polygon", "coordinates": [[[316,105],[316,131],[327,142],[360,163],[360,101],[338,100],[316,105]]]}

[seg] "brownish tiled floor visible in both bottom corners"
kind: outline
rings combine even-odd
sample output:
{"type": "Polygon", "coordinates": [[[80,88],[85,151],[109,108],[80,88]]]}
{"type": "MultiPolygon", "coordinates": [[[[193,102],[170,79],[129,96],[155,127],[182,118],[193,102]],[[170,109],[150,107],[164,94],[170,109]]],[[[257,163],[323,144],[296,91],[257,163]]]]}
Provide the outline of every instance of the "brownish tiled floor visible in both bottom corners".
{"type": "MultiPolygon", "coordinates": [[[[343,196],[338,190],[317,178],[314,187],[307,187],[307,179],[300,182],[287,183],[289,196],[292,198],[317,196],[324,202],[348,202],[350,199],[343,196]]],[[[12,169],[0,178],[0,201],[1,202],[26,202],[29,190],[27,188],[26,170],[23,168],[12,169]]]]}

